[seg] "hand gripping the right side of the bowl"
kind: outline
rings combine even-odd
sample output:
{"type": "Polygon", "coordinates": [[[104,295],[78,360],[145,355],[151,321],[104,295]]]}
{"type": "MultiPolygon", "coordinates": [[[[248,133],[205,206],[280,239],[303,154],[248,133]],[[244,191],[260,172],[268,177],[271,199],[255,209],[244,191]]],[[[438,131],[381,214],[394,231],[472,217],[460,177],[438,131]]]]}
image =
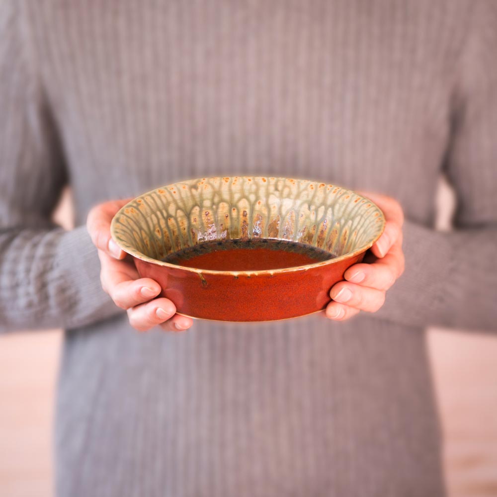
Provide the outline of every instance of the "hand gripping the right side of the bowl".
{"type": "Polygon", "coordinates": [[[402,225],[404,213],[399,202],[377,193],[362,193],[385,214],[385,231],[366,253],[365,263],[350,266],[345,281],[333,285],[332,301],[326,308],[326,317],[344,321],[360,311],[376,312],[385,303],[386,291],[404,272],[402,225]],[[370,262],[369,264],[366,262],[370,262]]]}

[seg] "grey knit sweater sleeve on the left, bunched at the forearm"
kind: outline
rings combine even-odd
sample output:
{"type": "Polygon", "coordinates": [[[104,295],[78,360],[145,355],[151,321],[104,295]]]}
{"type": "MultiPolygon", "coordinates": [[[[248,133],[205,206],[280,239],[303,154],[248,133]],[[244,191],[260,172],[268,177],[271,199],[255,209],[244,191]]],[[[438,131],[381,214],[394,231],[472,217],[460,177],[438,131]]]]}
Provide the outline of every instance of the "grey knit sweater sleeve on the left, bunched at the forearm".
{"type": "Polygon", "coordinates": [[[79,327],[119,310],[85,227],[51,222],[68,177],[20,4],[0,3],[0,331],[79,327]]]}

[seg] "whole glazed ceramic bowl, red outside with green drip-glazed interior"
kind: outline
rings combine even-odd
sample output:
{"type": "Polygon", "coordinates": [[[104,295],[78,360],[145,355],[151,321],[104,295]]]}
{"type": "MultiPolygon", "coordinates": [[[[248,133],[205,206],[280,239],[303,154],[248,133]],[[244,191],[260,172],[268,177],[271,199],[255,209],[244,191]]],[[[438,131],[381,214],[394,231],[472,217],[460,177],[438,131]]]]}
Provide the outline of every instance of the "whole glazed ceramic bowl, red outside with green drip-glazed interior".
{"type": "Polygon", "coordinates": [[[111,233],[179,314],[271,321],[323,310],[384,226],[381,210],[346,188],[239,176],[145,193],[115,215],[111,233]]]}

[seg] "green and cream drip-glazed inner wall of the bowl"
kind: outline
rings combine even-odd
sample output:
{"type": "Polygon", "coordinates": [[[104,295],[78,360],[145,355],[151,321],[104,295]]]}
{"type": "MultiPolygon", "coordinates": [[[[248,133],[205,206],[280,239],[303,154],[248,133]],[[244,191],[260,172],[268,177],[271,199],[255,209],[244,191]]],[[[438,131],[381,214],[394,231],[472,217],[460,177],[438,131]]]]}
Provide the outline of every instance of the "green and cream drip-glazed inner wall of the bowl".
{"type": "Polygon", "coordinates": [[[236,176],[190,179],[145,193],[116,214],[111,232],[126,252],[157,262],[202,242],[253,238],[304,243],[341,257],[371,247],[384,225],[373,202],[346,188],[236,176]]]}

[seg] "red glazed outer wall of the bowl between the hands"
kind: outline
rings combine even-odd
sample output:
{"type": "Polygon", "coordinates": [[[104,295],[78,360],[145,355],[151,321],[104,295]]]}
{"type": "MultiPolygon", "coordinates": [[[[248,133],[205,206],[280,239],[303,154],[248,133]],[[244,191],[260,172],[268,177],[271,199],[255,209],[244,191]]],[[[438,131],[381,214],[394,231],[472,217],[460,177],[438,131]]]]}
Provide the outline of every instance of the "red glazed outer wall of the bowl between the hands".
{"type": "Polygon", "coordinates": [[[195,272],[138,258],[135,264],[141,277],[161,285],[161,296],[170,299],[179,314],[216,321],[274,321],[325,309],[331,287],[363,257],[364,252],[354,253],[288,271],[253,273],[195,272]]]}

